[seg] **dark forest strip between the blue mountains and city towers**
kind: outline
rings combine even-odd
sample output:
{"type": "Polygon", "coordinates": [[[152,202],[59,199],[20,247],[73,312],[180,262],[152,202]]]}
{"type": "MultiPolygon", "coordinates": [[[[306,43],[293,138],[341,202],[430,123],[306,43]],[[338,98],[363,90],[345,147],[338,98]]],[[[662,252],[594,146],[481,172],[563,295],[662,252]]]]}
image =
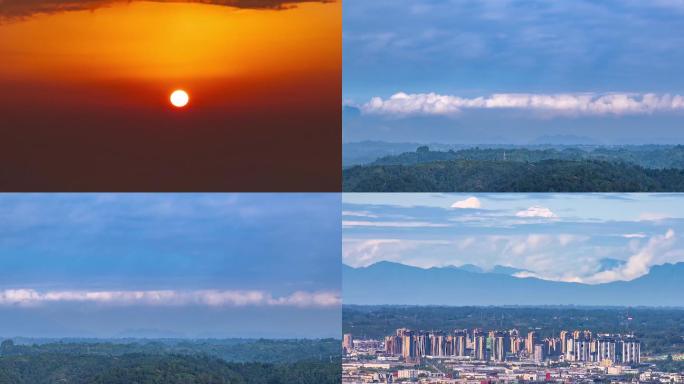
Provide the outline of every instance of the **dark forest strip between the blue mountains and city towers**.
{"type": "Polygon", "coordinates": [[[344,306],[342,328],[356,337],[382,338],[397,328],[534,330],[541,337],[561,330],[633,332],[644,355],[684,353],[684,309],[597,307],[344,306]]]}

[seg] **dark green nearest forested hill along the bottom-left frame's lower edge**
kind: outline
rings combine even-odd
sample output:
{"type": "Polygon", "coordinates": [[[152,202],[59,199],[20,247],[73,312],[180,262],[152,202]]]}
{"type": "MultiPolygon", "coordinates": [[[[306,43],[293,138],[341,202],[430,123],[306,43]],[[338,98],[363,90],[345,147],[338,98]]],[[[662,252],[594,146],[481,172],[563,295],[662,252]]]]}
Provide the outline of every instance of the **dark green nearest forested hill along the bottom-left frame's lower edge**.
{"type": "Polygon", "coordinates": [[[339,360],[263,364],[187,355],[0,357],[0,384],[338,384],[340,380],[339,360]]]}

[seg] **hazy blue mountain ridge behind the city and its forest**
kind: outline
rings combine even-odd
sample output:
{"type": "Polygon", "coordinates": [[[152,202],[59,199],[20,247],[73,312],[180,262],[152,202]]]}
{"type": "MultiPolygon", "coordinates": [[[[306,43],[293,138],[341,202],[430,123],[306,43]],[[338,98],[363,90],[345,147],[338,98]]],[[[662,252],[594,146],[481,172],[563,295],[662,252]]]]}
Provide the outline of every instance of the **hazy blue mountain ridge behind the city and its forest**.
{"type": "Polygon", "coordinates": [[[684,306],[684,263],[631,281],[579,284],[392,262],[342,269],[344,304],[684,306]]]}

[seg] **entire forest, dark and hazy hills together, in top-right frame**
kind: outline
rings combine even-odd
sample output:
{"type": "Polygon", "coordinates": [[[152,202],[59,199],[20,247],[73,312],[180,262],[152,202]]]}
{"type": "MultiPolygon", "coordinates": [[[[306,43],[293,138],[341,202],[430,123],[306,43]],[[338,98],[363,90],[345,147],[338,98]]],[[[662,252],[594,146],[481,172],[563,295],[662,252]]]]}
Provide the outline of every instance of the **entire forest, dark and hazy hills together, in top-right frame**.
{"type": "Polygon", "coordinates": [[[416,151],[343,171],[347,192],[681,192],[684,146],[416,151]]]}

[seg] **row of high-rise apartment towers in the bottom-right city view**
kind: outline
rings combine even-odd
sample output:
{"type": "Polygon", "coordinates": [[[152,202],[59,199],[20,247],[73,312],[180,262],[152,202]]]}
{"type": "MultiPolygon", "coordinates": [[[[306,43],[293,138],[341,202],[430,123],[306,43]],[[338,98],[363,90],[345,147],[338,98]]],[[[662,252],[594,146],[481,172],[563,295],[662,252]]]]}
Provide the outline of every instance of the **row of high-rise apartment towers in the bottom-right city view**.
{"type": "MultiPolygon", "coordinates": [[[[358,342],[358,340],[357,340],[358,342]]],[[[458,329],[453,332],[396,330],[384,341],[364,341],[365,349],[382,348],[386,356],[406,361],[425,357],[461,357],[478,361],[547,360],[638,365],[641,343],[634,335],[601,334],[591,331],[561,331],[558,337],[540,338],[537,332],[521,334],[516,329],[489,331],[458,329]]],[[[343,339],[345,353],[355,348],[351,334],[343,339]]]]}

